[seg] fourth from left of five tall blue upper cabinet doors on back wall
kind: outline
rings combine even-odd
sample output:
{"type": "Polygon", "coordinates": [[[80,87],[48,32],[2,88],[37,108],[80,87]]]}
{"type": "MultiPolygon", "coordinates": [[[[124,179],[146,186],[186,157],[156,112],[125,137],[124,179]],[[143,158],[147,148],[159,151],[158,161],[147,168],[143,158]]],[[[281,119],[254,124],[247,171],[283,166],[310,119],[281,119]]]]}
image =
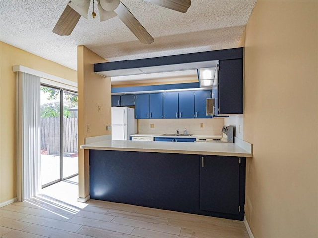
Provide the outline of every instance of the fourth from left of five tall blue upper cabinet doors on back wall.
{"type": "Polygon", "coordinates": [[[179,118],[194,118],[194,91],[179,92],[179,118]]]}

